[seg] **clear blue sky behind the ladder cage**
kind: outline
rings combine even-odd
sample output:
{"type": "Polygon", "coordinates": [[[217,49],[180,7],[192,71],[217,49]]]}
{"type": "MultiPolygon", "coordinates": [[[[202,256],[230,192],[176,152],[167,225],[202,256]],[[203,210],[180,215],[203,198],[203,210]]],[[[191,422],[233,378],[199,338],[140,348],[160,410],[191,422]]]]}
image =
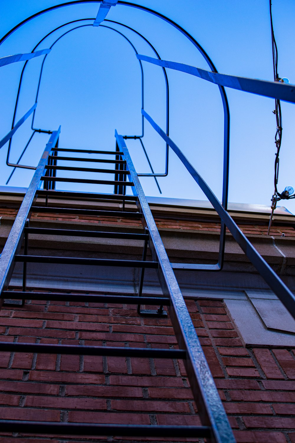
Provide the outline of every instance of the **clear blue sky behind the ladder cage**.
{"type": "MultiPolygon", "coordinates": [[[[217,70],[224,74],[273,80],[268,0],[134,0],[173,19],[189,31],[208,52],[217,70]]],[[[59,4],[56,0],[1,0],[0,35],[24,18],[59,4]]],[[[278,71],[295,84],[295,1],[273,0],[273,24],[279,51],[278,71]]],[[[98,4],[69,6],[32,20],[0,47],[0,57],[31,52],[35,44],[55,27],[71,20],[94,18],[98,4]]],[[[161,58],[204,69],[208,65],[191,43],[173,27],[134,8],[117,5],[108,19],[134,27],[156,47],[161,58]]],[[[91,24],[92,21],[83,22],[91,24]]],[[[79,23],[78,23],[79,24],[79,23]]],[[[81,23],[82,24],[82,23],[81,23]]],[[[148,45],[119,25],[103,23],[122,31],[141,54],[153,56],[148,45]]],[[[63,28],[69,30],[73,25],[63,28]]],[[[49,47],[61,31],[45,40],[49,47]]],[[[28,63],[17,120],[33,105],[42,58],[28,63]]],[[[143,62],[145,109],[165,130],[165,83],[161,68],[143,62]]],[[[20,72],[24,63],[0,68],[0,138],[11,128],[20,72]]],[[[219,89],[204,80],[167,70],[170,86],[170,136],[209,186],[221,199],[223,161],[223,108],[219,89]]],[[[56,43],[44,64],[35,127],[57,129],[60,146],[113,150],[115,128],[122,135],[141,133],[141,77],[133,49],[118,33],[106,27],[82,27],[56,43]]],[[[270,204],[275,160],[274,100],[227,89],[231,113],[229,201],[270,204]]],[[[282,102],[283,137],[279,185],[295,187],[295,106],[282,102]]],[[[18,158],[30,136],[30,121],[16,133],[12,161],[18,158]]],[[[23,162],[36,165],[47,135],[35,135],[23,162]]],[[[145,123],[144,144],[153,168],[165,168],[165,143],[145,123]]],[[[149,172],[139,141],[127,143],[138,172],[149,172]]],[[[4,185],[11,168],[5,165],[7,145],[0,150],[4,185]]],[[[65,176],[65,173],[63,173],[65,176]]],[[[28,186],[30,171],[16,171],[9,185],[28,186]]],[[[93,177],[94,178],[94,177],[93,177]]],[[[108,177],[109,178],[109,177],[108,177]]],[[[206,199],[170,150],[169,175],[159,178],[162,196],[206,199]]],[[[142,178],[146,195],[159,196],[151,178],[142,178]]],[[[61,188],[61,187],[60,187],[61,188]]],[[[81,190],[90,190],[83,188],[81,190]]],[[[93,191],[109,192],[100,187],[93,191]]],[[[112,192],[112,191],[111,191],[112,192]]],[[[295,213],[295,200],[279,202],[295,213]]]]}

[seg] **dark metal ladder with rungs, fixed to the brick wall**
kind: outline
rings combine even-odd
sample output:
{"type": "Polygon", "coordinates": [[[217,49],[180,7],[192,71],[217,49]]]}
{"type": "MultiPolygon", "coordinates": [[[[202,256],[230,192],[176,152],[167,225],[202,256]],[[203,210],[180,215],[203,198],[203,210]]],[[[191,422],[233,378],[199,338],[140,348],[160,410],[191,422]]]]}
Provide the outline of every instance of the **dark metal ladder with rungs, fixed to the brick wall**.
{"type": "Polygon", "coordinates": [[[202,351],[199,339],[195,332],[189,312],[185,306],[183,296],[174,276],[173,269],[165,252],[159,232],[152,213],[149,209],[145,194],[139,182],[138,175],[130,158],[128,149],[122,136],[116,132],[116,150],[93,151],[86,149],[66,149],[59,148],[59,132],[52,132],[46,145],[43,155],[36,168],[28,191],[24,196],[16,220],[12,226],[3,253],[0,257],[0,277],[1,277],[1,306],[4,299],[12,298],[21,300],[62,300],[62,301],[83,301],[83,302],[103,302],[103,303],[138,303],[138,314],[145,316],[166,316],[167,312],[163,306],[168,307],[169,316],[173,324],[179,349],[142,349],[142,348],[122,348],[106,346],[74,346],[74,345],[49,345],[31,343],[11,343],[0,342],[1,351],[9,352],[29,352],[47,354],[78,354],[96,356],[124,356],[124,357],[146,357],[146,358],[179,358],[185,362],[186,371],[193,392],[194,400],[197,403],[201,426],[160,426],[160,425],[122,425],[122,424],[91,424],[91,423],[57,423],[40,421],[19,421],[0,420],[1,431],[13,432],[34,432],[49,434],[77,434],[77,435],[122,435],[122,436],[149,436],[149,437],[200,437],[206,438],[210,442],[234,442],[228,418],[224,412],[220,397],[214,384],[212,374],[208,368],[205,355],[202,351]],[[68,153],[79,153],[88,155],[107,154],[110,159],[99,159],[97,157],[68,157],[68,153]],[[61,155],[60,155],[61,154],[61,155]],[[66,154],[66,156],[65,156],[66,154]],[[115,165],[115,169],[94,169],[85,167],[59,166],[58,160],[67,161],[91,161],[98,163],[110,163],[115,165]],[[76,171],[114,174],[114,180],[93,180],[81,178],[60,178],[56,177],[56,171],[76,171]],[[127,181],[127,178],[129,181],[127,181]],[[72,192],[55,190],[55,183],[93,183],[114,185],[114,194],[94,194],[87,192],[72,192]],[[41,187],[43,186],[43,189],[41,187]],[[133,196],[126,195],[126,187],[130,187],[133,196]],[[45,197],[45,206],[36,206],[37,196],[45,197]],[[48,200],[52,197],[85,197],[99,200],[122,201],[122,211],[87,210],[77,208],[64,208],[48,206],[48,200]],[[125,210],[125,202],[135,202],[137,212],[125,210]],[[70,230],[70,229],[45,229],[32,228],[29,220],[32,211],[64,214],[87,214],[92,216],[114,216],[128,217],[142,220],[143,233],[134,234],[126,232],[106,232],[101,230],[70,230]],[[28,253],[28,241],[30,234],[38,233],[44,235],[67,235],[79,237],[100,237],[126,240],[142,240],[143,253],[142,260],[111,260],[100,258],[80,258],[80,257],[57,257],[57,256],[33,256],[28,253]],[[24,243],[24,254],[20,254],[20,249],[24,243]],[[150,249],[152,260],[146,260],[147,249],[150,249]],[[8,291],[9,281],[16,262],[24,263],[23,288],[22,291],[8,291]],[[55,263],[55,264],[83,264],[97,266],[120,266],[140,268],[140,280],[138,295],[77,295],[63,293],[27,292],[27,263],[55,263]],[[161,285],[163,296],[150,297],[142,295],[144,271],[146,268],[153,268],[157,271],[157,276],[161,285]],[[154,305],[155,309],[142,309],[141,305],[154,305]]]}

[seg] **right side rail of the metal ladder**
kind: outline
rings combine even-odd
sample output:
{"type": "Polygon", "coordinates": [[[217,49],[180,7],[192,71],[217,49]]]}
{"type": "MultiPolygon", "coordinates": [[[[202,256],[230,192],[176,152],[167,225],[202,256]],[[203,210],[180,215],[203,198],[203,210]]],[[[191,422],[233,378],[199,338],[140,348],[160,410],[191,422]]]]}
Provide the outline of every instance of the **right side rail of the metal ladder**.
{"type": "Polygon", "coordinates": [[[128,178],[134,183],[132,189],[134,195],[138,196],[138,209],[144,216],[142,220],[143,226],[149,230],[151,239],[149,246],[153,260],[158,261],[157,274],[163,295],[169,295],[171,299],[169,307],[170,318],[177,342],[181,349],[186,350],[185,366],[202,423],[212,426],[212,442],[233,443],[235,439],[227,415],[125,141],[121,135],[118,135],[117,131],[115,131],[115,137],[119,148],[122,149],[125,155],[126,166],[130,171],[128,178]]]}

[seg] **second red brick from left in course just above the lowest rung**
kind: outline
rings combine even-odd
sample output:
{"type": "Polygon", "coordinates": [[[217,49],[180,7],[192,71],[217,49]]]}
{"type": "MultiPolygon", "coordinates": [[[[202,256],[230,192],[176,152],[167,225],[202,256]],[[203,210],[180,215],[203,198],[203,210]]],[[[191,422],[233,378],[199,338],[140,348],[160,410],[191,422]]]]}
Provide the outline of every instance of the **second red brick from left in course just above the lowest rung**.
{"type": "Polygon", "coordinates": [[[70,411],[69,422],[110,423],[110,424],[150,424],[147,414],[70,411]]]}

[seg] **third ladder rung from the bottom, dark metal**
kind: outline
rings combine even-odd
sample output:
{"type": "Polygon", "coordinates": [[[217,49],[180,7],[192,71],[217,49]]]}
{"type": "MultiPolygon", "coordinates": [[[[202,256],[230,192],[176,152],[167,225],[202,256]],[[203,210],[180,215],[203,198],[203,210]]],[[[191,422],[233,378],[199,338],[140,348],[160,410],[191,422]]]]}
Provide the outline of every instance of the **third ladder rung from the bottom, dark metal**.
{"type": "Polygon", "coordinates": [[[138,297],[136,295],[90,295],[90,294],[64,294],[59,292],[22,292],[3,291],[2,299],[15,300],[52,300],[64,302],[88,302],[88,303],[126,303],[126,304],[159,304],[170,306],[170,299],[166,297],[138,297]]]}

